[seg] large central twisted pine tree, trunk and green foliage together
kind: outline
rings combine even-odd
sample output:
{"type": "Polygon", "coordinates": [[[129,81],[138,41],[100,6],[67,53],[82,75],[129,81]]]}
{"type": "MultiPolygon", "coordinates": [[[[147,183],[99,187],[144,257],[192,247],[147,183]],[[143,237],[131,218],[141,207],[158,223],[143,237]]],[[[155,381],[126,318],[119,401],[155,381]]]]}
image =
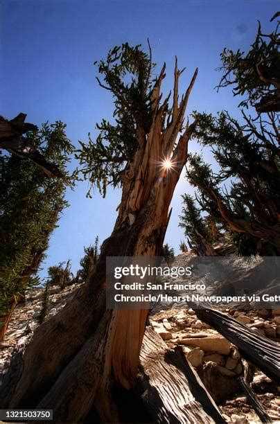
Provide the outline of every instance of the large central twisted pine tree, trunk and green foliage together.
{"type": "Polygon", "coordinates": [[[51,408],[56,422],[81,421],[92,405],[101,421],[119,421],[112,387],[134,384],[148,310],[106,310],[106,257],[159,256],[195,128],[184,115],[198,70],[178,103],[182,71],[175,61],[170,107],[170,94],[161,100],[166,65],[152,81],[151,56],[140,46],[115,47],[98,67],[100,85],[114,97],[115,121],[104,120],[96,142],[82,143],[78,157],[103,194],[107,184],[121,186],[119,215],[87,283],[14,357],[2,386],[3,405],[51,408]]]}

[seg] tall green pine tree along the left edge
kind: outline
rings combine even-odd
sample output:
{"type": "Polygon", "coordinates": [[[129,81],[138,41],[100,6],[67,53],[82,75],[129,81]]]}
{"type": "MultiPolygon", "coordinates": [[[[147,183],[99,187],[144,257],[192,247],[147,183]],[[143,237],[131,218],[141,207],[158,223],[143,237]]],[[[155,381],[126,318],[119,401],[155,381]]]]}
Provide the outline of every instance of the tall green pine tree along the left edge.
{"type": "Polygon", "coordinates": [[[50,178],[33,160],[4,151],[0,154],[1,339],[17,301],[24,297],[28,286],[39,282],[33,276],[60,213],[67,206],[64,193],[72,182],[66,166],[73,146],[64,132],[65,126],[60,121],[44,124],[42,130],[21,136],[24,145],[32,144],[37,155],[59,171],[59,178],[50,178]]]}

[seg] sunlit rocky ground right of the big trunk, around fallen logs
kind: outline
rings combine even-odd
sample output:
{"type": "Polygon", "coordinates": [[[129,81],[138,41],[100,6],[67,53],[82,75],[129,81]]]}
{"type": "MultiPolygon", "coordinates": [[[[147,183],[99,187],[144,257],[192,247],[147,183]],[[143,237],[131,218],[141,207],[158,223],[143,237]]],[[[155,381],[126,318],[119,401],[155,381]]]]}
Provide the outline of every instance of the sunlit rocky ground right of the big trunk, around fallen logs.
{"type": "MultiPolygon", "coordinates": [[[[229,313],[229,310],[224,312],[229,313]]],[[[230,311],[238,321],[245,322],[256,331],[277,340],[280,310],[275,312],[279,315],[270,315],[268,310],[230,311]]],[[[243,368],[236,346],[202,323],[192,309],[162,310],[150,317],[150,324],[170,347],[182,346],[186,359],[197,369],[227,421],[260,422],[246,396],[240,392],[238,376],[243,368]]],[[[278,340],[280,342],[280,338],[278,340]]],[[[280,386],[256,369],[252,389],[272,421],[280,423],[280,386]]]]}

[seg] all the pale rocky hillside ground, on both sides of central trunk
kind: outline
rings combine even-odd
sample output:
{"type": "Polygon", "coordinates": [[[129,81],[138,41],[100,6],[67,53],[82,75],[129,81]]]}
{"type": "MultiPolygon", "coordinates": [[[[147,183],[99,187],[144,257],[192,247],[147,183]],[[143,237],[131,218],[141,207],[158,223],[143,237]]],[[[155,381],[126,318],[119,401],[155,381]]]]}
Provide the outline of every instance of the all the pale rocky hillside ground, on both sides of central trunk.
{"type": "MultiPolygon", "coordinates": [[[[187,256],[177,256],[175,265],[186,265],[187,256]]],[[[51,288],[46,319],[71,301],[77,288],[78,285],[70,285],[62,291],[58,287],[51,288]]],[[[5,342],[0,346],[1,372],[8,366],[14,346],[39,325],[37,317],[42,307],[42,294],[42,288],[33,288],[26,296],[26,303],[17,306],[5,342]]],[[[254,331],[280,342],[280,309],[222,310],[254,331]]],[[[243,371],[238,349],[225,337],[200,321],[191,308],[174,308],[167,304],[161,309],[155,308],[150,315],[150,324],[170,347],[182,346],[187,360],[195,366],[226,421],[260,422],[238,386],[238,376],[243,371]]],[[[271,420],[280,423],[280,387],[256,369],[252,389],[271,420]]]]}

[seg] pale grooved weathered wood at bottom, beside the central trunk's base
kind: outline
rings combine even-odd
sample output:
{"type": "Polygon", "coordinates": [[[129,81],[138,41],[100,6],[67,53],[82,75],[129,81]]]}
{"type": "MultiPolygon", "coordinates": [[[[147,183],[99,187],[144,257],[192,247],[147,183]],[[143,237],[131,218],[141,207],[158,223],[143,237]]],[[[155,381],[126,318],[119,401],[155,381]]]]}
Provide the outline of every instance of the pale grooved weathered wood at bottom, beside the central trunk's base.
{"type": "Polygon", "coordinates": [[[157,423],[225,423],[180,348],[146,328],[140,353],[142,400],[157,423]]]}

